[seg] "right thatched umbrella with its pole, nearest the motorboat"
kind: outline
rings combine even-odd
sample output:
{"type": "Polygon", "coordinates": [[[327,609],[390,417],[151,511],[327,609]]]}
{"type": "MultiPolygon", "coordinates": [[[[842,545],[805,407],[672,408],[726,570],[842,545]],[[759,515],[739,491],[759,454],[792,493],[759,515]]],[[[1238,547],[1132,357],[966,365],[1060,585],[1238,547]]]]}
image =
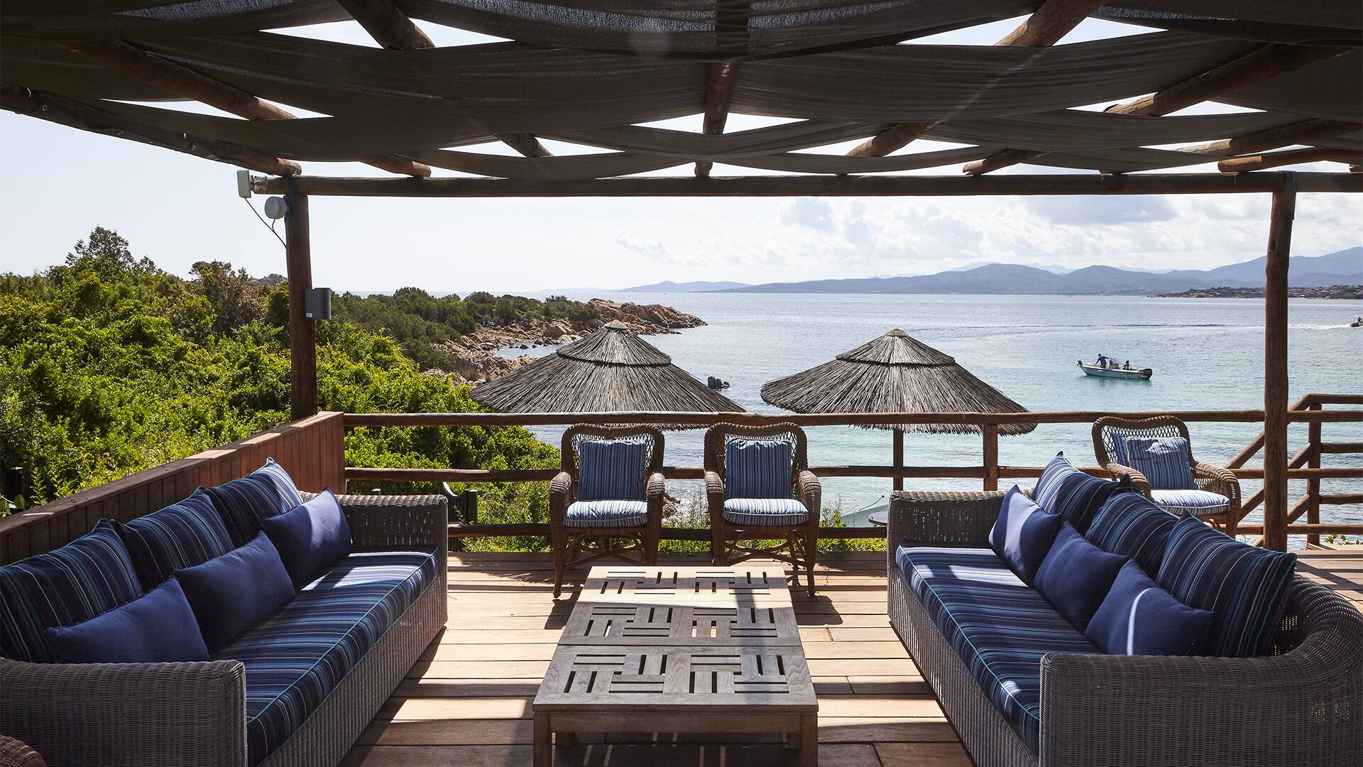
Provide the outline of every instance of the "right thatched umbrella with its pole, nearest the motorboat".
{"type": "MultiPolygon", "coordinates": [[[[890,330],[833,362],[762,386],[762,399],[795,412],[1024,412],[949,355],[890,330]]],[[[965,423],[897,423],[867,429],[894,431],[895,465],[904,465],[904,433],[980,434],[965,423]]],[[[999,434],[1025,434],[1035,423],[1005,423],[999,434]]],[[[904,480],[895,478],[898,490],[904,480]]]]}

